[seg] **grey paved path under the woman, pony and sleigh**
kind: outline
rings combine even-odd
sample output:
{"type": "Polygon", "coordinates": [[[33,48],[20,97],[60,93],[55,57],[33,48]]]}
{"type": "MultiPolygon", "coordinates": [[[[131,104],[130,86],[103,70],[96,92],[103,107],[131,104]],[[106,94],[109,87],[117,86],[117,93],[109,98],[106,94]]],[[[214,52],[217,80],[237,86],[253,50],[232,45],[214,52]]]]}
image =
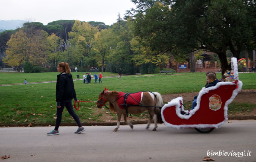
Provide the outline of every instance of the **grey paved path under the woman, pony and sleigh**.
{"type": "Polygon", "coordinates": [[[244,157],[210,156],[215,162],[256,161],[256,120],[229,121],[208,134],[164,124],[151,131],[138,124],[133,130],[121,125],[117,132],[112,131],[114,126],[88,126],[81,134],[73,133],[77,127],[60,127],[60,135],[47,136],[53,128],[0,128],[0,156],[11,156],[2,161],[202,162],[208,150],[251,152],[244,157]]]}

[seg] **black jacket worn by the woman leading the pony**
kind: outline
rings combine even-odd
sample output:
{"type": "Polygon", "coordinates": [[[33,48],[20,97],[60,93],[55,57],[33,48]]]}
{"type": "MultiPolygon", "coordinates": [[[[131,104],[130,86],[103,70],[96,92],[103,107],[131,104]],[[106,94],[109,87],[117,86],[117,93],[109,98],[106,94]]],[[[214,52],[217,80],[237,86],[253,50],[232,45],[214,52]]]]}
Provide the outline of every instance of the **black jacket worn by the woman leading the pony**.
{"type": "Polygon", "coordinates": [[[73,98],[77,100],[72,75],[62,72],[61,74],[57,75],[57,106],[60,106],[61,102],[71,102],[73,98]]]}

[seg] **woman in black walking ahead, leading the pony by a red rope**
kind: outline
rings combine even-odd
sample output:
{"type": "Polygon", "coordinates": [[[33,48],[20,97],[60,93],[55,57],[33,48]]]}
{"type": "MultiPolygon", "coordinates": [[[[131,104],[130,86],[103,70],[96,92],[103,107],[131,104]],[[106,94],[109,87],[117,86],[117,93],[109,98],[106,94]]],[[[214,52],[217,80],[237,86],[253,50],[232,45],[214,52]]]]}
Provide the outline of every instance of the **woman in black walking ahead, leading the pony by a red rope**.
{"type": "Polygon", "coordinates": [[[57,75],[56,84],[57,119],[54,130],[47,133],[47,135],[59,134],[58,127],[61,124],[64,107],[67,108],[68,113],[73,117],[79,127],[75,133],[81,133],[85,129],[82,127],[79,117],[76,115],[72,105],[73,98],[76,101],[78,101],[78,99],[76,98],[76,91],[74,88],[72,75],[70,74],[70,68],[67,63],[61,62],[58,64],[57,70],[61,73],[57,75]]]}

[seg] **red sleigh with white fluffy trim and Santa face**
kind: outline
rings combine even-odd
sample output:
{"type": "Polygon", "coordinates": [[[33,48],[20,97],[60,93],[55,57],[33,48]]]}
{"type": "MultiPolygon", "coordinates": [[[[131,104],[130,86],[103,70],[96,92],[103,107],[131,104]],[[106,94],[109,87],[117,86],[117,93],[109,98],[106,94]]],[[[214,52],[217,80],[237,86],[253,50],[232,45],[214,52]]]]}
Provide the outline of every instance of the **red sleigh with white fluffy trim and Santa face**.
{"type": "Polygon", "coordinates": [[[200,133],[209,133],[227,121],[228,104],[241,90],[238,78],[237,59],[232,58],[235,81],[219,82],[214,87],[202,88],[193,110],[184,110],[183,98],[172,99],[162,107],[161,115],[167,127],[195,128],[200,133]],[[181,112],[189,113],[189,115],[181,112]]]}

